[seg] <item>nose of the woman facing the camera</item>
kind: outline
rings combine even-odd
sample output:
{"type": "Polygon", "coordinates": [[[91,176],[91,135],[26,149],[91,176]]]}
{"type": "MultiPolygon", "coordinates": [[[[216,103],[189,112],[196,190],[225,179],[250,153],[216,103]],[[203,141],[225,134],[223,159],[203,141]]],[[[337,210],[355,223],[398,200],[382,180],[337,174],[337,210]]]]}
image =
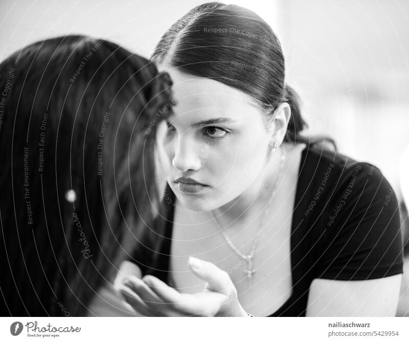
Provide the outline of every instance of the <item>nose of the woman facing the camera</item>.
{"type": "Polygon", "coordinates": [[[201,168],[200,149],[191,139],[178,139],[172,165],[179,171],[198,171],[201,168]]]}

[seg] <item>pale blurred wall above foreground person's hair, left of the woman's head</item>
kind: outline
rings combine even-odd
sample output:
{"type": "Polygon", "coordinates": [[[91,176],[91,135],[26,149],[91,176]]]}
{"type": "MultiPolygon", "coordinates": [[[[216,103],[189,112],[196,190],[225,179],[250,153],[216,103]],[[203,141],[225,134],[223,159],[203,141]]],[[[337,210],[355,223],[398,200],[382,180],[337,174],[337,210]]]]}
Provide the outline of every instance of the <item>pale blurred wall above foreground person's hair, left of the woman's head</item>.
{"type": "Polygon", "coordinates": [[[201,1],[1,0],[0,59],[42,38],[87,34],[149,57],[176,19],[201,1]]]}

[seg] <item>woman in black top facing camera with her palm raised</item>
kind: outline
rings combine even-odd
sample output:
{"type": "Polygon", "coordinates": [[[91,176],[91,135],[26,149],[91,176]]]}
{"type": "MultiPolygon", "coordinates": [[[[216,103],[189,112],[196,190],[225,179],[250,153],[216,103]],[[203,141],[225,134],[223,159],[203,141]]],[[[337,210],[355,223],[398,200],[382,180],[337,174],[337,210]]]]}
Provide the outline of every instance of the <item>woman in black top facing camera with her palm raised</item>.
{"type": "Polygon", "coordinates": [[[200,5],[164,34],[152,60],[177,99],[158,131],[170,210],[166,229],[156,229],[161,248],[135,249],[136,277],[122,287],[135,310],[395,315],[394,192],[375,166],[300,135],[297,96],[266,22],[242,7],[200,5]]]}

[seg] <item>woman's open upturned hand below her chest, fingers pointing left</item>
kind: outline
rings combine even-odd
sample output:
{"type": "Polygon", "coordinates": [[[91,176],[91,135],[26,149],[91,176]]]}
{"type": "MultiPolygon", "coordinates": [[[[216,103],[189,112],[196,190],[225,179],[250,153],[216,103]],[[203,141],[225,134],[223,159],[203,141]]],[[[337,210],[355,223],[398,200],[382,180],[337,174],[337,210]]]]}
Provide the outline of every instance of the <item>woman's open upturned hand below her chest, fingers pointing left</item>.
{"type": "Polygon", "coordinates": [[[180,293],[160,279],[130,276],[120,288],[125,300],[145,316],[247,316],[227,272],[211,262],[189,258],[191,270],[206,281],[202,292],[180,293]]]}

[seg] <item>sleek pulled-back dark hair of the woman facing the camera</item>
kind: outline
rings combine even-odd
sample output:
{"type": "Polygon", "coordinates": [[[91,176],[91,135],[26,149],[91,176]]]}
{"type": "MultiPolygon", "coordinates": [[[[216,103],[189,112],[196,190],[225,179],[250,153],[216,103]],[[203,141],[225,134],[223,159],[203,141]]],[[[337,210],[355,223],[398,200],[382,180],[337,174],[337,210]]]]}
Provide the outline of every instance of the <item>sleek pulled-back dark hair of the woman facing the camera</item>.
{"type": "Polygon", "coordinates": [[[300,135],[307,125],[299,98],[284,83],[280,41],[253,11],[216,2],[199,5],[170,27],[151,59],[176,67],[181,73],[212,78],[241,90],[267,119],[282,102],[288,102],[291,118],[285,141],[311,144],[309,138],[300,135]]]}

